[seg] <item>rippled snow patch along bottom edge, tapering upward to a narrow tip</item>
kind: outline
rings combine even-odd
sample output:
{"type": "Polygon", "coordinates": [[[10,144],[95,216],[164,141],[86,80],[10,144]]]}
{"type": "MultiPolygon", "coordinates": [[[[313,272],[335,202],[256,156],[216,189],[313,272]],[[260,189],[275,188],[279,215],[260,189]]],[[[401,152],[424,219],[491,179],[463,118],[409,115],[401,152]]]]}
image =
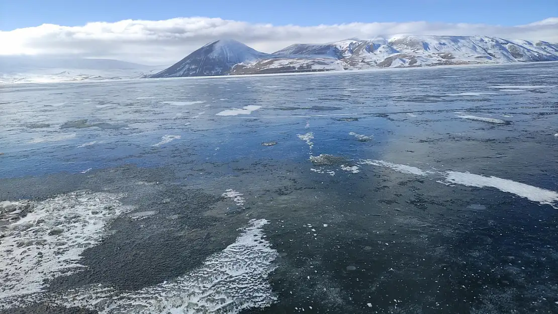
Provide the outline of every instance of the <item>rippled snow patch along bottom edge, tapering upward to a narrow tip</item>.
{"type": "Polygon", "coordinates": [[[264,308],[277,302],[267,278],[277,267],[273,261],[278,253],[263,234],[266,224],[265,219],[249,221],[233,244],[208,257],[200,268],[156,286],[117,291],[94,284],[25,300],[13,298],[0,308],[34,302],[88,308],[100,314],[237,314],[248,308],[264,308]]]}

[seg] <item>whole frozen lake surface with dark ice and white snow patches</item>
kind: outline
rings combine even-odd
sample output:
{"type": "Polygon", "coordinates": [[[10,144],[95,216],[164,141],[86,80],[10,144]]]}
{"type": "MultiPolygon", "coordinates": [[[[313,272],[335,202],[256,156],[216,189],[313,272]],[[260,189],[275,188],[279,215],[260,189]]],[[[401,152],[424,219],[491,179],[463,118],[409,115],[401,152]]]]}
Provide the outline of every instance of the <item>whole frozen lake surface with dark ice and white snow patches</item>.
{"type": "Polygon", "coordinates": [[[557,313],[558,64],[0,86],[2,313],[557,313]]]}

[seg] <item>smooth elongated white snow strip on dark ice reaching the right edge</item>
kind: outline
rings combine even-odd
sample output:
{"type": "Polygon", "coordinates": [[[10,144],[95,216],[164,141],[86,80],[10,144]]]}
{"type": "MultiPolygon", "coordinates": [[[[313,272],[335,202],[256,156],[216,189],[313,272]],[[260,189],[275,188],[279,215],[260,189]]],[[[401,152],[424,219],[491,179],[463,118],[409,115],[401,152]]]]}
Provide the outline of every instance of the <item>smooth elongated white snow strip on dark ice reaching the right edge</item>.
{"type": "Polygon", "coordinates": [[[498,177],[485,177],[474,175],[469,172],[446,172],[446,180],[451,183],[458,183],[465,186],[476,187],[495,187],[498,190],[525,197],[528,200],[538,202],[541,205],[551,205],[558,208],[558,193],[541,189],[539,187],[519,183],[498,177]]]}

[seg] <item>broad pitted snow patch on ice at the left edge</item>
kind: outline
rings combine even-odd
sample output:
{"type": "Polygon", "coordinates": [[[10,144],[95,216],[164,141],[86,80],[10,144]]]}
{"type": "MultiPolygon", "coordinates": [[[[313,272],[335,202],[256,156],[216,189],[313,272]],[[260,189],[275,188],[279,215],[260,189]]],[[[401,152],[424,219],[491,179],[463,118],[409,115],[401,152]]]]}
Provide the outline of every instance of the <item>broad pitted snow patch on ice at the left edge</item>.
{"type": "Polygon", "coordinates": [[[48,280],[84,269],[81,253],[102,241],[111,219],[132,209],[122,206],[121,197],[72,192],[44,201],[10,202],[15,210],[5,215],[6,209],[0,209],[0,217],[11,221],[0,229],[0,303],[40,292],[48,280]],[[30,212],[20,218],[23,210],[30,212]]]}

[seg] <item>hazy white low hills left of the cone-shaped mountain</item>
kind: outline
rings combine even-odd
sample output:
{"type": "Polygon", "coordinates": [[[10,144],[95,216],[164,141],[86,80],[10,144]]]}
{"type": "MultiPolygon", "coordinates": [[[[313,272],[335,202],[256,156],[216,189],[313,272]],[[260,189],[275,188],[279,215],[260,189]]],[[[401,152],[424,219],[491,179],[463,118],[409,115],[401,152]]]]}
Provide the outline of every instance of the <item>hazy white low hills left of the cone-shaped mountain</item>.
{"type": "Polygon", "coordinates": [[[0,83],[141,78],[165,67],[110,59],[0,56],[0,83]]]}

